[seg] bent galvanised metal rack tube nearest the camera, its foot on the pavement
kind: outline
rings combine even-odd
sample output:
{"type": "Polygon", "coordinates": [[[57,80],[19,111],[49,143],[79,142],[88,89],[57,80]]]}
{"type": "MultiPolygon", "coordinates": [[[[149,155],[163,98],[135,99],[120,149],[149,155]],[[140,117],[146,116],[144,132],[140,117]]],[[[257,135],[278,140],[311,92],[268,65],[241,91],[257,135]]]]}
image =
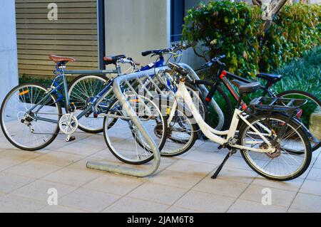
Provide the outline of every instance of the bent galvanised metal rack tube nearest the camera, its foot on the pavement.
{"type": "MultiPolygon", "coordinates": [[[[126,99],[126,96],[123,94],[121,90],[121,84],[126,83],[130,85],[130,81],[136,81],[142,85],[143,79],[146,80],[151,75],[158,73],[159,70],[165,70],[165,69],[167,69],[167,67],[156,68],[156,69],[153,68],[151,70],[146,70],[143,72],[133,73],[129,75],[122,75],[116,78],[113,83],[113,91],[117,99],[119,100],[119,102],[121,102],[123,110],[125,110],[129,114],[129,116],[131,117],[131,120],[136,125],[138,130],[141,132],[141,135],[144,137],[144,139],[146,139],[146,142],[148,143],[148,145],[151,147],[151,150],[154,155],[153,165],[146,170],[141,170],[141,169],[135,169],[131,167],[122,167],[116,164],[102,164],[97,162],[88,162],[87,168],[113,172],[116,174],[124,174],[128,176],[138,176],[138,177],[150,176],[151,174],[154,174],[157,171],[161,163],[161,154],[158,149],[158,146],[155,144],[150,134],[146,131],[145,127],[141,125],[141,121],[138,119],[136,112],[133,110],[128,100],[126,99]]],[[[136,91],[134,91],[133,88],[131,90],[136,93],[136,91]]]]}

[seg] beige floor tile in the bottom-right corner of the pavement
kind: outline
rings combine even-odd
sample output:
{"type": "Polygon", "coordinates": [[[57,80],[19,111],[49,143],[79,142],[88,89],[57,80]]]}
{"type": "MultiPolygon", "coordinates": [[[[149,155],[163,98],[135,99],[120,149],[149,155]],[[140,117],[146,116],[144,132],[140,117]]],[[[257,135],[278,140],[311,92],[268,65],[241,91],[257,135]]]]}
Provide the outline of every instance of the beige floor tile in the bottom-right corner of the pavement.
{"type": "Polygon", "coordinates": [[[290,208],[296,208],[303,211],[321,212],[321,196],[299,193],[295,197],[290,208]]]}

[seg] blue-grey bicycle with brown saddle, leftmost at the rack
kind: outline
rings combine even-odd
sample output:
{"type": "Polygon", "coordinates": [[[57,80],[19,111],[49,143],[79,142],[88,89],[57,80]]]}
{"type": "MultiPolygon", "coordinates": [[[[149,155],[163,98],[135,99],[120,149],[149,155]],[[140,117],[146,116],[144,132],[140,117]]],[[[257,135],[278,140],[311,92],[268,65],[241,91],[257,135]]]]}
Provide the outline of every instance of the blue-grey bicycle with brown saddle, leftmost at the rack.
{"type": "MultiPolygon", "coordinates": [[[[6,95],[1,105],[1,129],[9,142],[19,149],[26,151],[43,149],[56,139],[59,132],[66,136],[66,142],[71,142],[76,139],[73,134],[78,129],[82,118],[98,115],[106,111],[106,107],[110,105],[113,79],[108,80],[99,89],[91,84],[91,90],[98,90],[98,92],[88,96],[86,105],[80,107],[78,101],[69,95],[68,75],[121,74],[120,66],[116,70],[66,70],[67,63],[75,61],[74,58],[62,56],[50,56],[49,58],[56,63],[54,71],[56,78],[50,88],[36,83],[18,85],[6,95]],[[63,113],[62,106],[65,107],[66,113],[63,113]]],[[[120,58],[122,57],[118,56],[107,60],[116,62],[120,58]]],[[[81,95],[80,90],[78,90],[78,95],[81,95]]],[[[159,149],[162,149],[167,136],[167,123],[161,110],[146,97],[128,95],[128,99],[133,100],[135,107],[143,105],[153,110],[141,113],[141,117],[145,120],[142,124],[146,128],[158,127],[157,136],[152,138],[158,144],[159,149]],[[136,103],[136,99],[140,102],[136,103]]],[[[133,130],[133,122],[128,117],[125,126],[131,129],[131,142],[133,146],[136,146],[135,157],[139,162],[150,157],[148,146],[144,144],[141,134],[133,130]]]]}

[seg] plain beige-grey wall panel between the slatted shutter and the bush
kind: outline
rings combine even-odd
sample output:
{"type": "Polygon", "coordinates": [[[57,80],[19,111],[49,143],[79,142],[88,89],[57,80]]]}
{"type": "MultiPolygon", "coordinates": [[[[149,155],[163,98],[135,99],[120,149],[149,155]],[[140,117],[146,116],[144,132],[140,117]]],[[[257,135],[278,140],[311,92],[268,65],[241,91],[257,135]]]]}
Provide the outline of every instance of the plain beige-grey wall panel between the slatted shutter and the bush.
{"type": "Polygon", "coordinates": [[[147,64],[142,51],[170,45],[168,0],[106,0],[106,54],[147,64]]]}

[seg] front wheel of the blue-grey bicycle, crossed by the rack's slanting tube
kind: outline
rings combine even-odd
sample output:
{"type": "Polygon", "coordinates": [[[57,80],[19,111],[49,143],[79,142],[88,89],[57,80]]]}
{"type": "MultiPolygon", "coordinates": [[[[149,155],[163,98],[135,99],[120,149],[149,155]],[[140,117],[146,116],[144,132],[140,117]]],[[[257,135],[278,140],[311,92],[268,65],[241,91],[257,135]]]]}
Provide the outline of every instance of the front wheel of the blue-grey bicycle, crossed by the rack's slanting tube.
{"type": "MultiPolygon", "coordinates": [[[[167,135],[167,122],[161,110],[147,97],[141,95],[126,95],[126,97],[158,149],[163,149],[167,135]]],[[[122,162],[144,164],[153,159],[153,152],[146,139],[118,100],[111,104],[107,112],[103,123],[103,135],[111,153],[122,162]],[[118,119],[113,127],[108,123],[109,118],[118,119]]]]}

